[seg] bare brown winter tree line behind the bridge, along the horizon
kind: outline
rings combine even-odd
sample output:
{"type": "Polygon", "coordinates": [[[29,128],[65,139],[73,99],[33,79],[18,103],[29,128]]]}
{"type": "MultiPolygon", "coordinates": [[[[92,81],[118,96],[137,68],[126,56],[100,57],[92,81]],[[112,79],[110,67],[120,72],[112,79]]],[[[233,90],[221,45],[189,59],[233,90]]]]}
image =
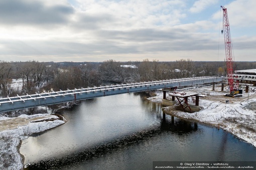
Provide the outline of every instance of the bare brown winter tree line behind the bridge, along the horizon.
{"type": "MultiPolygon", "coordinates": [[[[235,70],[256,68],[256,62],[236,62],[235,70]]],[[[194,76],[224,76],[224,61],[192,61],[179,59],[162,62],[7,62],[0,60],[0,91],[2,97],[35,92],[58,91],[109,83],[129,83],[194,76]],[[14,86],[19,79],[20,87],[14,86]]]]}

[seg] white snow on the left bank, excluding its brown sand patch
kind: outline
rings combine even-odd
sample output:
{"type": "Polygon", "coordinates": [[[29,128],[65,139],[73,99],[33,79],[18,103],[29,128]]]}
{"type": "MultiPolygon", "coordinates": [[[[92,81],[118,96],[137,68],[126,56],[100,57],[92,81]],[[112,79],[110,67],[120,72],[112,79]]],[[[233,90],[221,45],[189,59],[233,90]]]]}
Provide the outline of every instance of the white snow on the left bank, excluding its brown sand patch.
{"type": "MultiPolygon", "coordinates": [[[[50,114],[22,114],[19,117],[37,118],[37,121],[29,122],[27,125],[19,126],[16,129],[0,131],[0,169],[23,169],[23,159],[19,153],[19,145],[22,139],[29,137],[33,133],[45,131],[47,129],[59,126],[65,123],[56,115],[51,115],[51,119],[46,121],[44,116],[49,117],[50,114]]],[[[0,120],[10,118],[0,117],[0,120]]]]}

